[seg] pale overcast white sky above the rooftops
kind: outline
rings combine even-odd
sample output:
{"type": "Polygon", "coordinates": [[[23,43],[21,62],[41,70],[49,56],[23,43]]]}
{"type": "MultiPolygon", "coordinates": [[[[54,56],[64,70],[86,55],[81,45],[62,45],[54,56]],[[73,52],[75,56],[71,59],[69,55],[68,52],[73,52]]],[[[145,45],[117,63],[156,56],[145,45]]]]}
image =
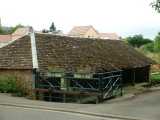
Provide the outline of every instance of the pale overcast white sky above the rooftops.
{"type": "Polygon", "coordinates": [[[160,13],[153,0],[1,0],[2,25],[48,29],[53,21],[64,33],[73,26],[93,25],[99,32],[122,37],[142,34],[153,39],[160,32],[160,13]]]}

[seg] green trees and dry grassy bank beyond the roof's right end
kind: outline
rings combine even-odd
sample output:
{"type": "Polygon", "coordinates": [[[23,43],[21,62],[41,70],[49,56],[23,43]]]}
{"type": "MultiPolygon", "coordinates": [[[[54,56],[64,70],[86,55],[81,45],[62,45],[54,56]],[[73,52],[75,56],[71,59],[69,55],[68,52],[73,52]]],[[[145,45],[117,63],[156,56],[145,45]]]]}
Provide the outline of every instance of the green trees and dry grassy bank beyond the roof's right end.
{"type": "MultiPolygon", "coordinates": [[[[134,35],[125,39],[129,45],[160,64],[160,33],[154,40],[144,39],[142,35],[134,35]]],[[[151,82],[160,83],[160,68],[152,67],[151,82]]]]}

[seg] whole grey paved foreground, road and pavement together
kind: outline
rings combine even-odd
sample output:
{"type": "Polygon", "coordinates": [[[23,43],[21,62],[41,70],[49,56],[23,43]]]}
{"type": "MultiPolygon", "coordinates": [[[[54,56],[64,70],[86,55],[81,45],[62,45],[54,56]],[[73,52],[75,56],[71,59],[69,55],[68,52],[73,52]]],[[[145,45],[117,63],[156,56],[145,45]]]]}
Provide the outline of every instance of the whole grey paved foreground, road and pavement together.
{"type": "MultiPolygon", "coordinates": [[[[77,113],[55,112],[43,109],[35,109],[39,107],[49,109],[63,109],[69,111],[77,111],[83,113],[95,113],[97,115],[121,116],[122,118],[138,118],[140,120],[160,120],[160,90],[140,94],[134,98],[125,100],[106,101],[101,104],[73,104],[73,103],[56,103],[28,100],[21,97],[13,97],[8,94],[0,94],[0,105],[9,104],[21,106],[4,107],[0,106],[0,120],[103,120],[103,118],[95,118],[77,113]],[[23,109],[23,106],[29,106],[34,109],[23,109]],[[43,114],[42,114],[43,113],[43,114]],[[16,116],[14,116],[16,114],[16,116]],[[2,119],[3,117],[3,119],[2,119]]],[[[115,117],[119,118],[119,117],[115,117]]],[[[108,119],[111,120],[111,119],[108,119]]]]}

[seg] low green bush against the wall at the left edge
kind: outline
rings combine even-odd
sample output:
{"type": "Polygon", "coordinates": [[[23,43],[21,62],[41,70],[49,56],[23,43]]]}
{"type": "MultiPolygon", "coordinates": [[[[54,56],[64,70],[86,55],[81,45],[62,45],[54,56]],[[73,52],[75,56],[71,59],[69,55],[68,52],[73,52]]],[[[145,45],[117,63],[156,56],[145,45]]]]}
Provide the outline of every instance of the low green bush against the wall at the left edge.
{"type": "Polygon", "coordinates": [[[0,92],[14,93],[17,96],[23,96],[23,90],[21,90],[17,84],[15,76],[0,76],[0,92]]]}

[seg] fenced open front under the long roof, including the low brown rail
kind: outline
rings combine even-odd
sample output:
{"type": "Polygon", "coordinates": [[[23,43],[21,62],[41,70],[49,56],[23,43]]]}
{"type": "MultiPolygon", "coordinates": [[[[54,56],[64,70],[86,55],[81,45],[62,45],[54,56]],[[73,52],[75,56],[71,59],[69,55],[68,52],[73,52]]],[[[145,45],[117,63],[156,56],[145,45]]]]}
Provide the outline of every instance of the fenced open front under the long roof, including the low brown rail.
{"type": "Polygon", "coordinates": [[[122,95],[122,71],[105,73],[35,73],[35,91],[51,101],[96,102],[122,95]]]}

